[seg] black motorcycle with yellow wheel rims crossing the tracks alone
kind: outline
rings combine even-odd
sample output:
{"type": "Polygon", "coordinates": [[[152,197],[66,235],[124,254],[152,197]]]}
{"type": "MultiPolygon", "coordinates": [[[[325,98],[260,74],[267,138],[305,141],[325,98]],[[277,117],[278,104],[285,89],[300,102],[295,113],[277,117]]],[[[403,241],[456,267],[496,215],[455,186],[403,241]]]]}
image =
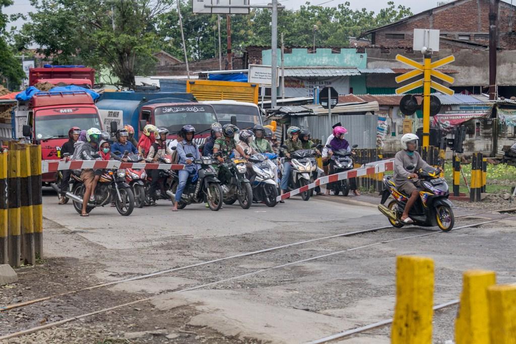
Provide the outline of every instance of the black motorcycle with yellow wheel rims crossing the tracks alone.
{"type": "MultiPolygon", "coordinates": [[[[407,171],[413,171],[414,166],[408,166],[407,171]]],[[[448,184],[444,178],[439,177],[439,169],[432,167],[420,169],[416,173],[420,179],[420,198],[414,203],[409,211],[409,217],[414,220],[415,225],[439,228],[448,232],[451,231],[455,223],[455,216],[451,210],[451,202],[448,200],[449,190],[448,184]]],[[[396,189],[392,176],[383,178],[384,190],[382,191],[382,199],[378,209],[385,215],[391,225],[401,228],[405,224],[400,218],[403,214],[408,195],[402,194],[396,189]],[[389,202],[387,206],[383,204],[389,196],[394,200],[389,202]]]]}

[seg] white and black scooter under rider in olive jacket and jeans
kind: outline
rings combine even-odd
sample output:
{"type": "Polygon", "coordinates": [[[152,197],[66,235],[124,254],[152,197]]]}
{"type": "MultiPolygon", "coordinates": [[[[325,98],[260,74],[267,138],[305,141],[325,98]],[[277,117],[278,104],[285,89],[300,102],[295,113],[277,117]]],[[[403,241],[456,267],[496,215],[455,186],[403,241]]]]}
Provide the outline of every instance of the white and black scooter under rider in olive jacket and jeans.
{"type": "MultiPolygon", "coordinates": [[[[286,145],[281,146],[281,155],[285,154],[286,145]]],[[[315,148],[315,145],[313,146],[315,148]]],[[[283,162],[288,161],[292,168],[288,178],[288,191],[299,189],[313,182],[313,172],[317,171],[317,163],[315,162],[315,150],[297,150],[290,154],[290,157],[282,157],[280,163],[280,172],[283,175],[283,162]]],[[[308,201],[313,194],[313,190],[303,191],[299,193],[303,201],[308,201]]]]}

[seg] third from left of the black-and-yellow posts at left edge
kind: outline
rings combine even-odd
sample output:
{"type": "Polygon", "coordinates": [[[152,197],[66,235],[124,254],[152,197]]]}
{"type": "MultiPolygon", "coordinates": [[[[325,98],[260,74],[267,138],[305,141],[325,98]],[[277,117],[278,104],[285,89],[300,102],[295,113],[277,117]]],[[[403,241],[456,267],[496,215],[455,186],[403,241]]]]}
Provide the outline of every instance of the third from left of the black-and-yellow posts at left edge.
{"type": "Polygon", "coordinates": [[[34,212],[32,207],[32,186],[30,177],[30,146],[19,144],[20,151],[20,201],[22,260],[24,264],[35,265],[34,212]]]}

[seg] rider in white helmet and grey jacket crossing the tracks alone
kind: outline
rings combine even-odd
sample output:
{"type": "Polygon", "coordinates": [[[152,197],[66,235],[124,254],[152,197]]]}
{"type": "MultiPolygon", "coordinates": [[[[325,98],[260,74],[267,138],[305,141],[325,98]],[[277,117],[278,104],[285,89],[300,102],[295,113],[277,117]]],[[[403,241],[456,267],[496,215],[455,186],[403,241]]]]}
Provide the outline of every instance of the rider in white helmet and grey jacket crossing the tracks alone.
{"type": "Polygon", "coordinates": [[[403,150],[396,153],[394,157],[394,184],[396,188],[403,194],[409,196],[403,215],[401,215],[401,222],[405,224],[414,223],[409,217],[409,210],[414,205],[415,201],[419,197],[419,191],[417,187],[420,181],[417,179],[417,171],[422,168],[429,167],[417,150],[418,137],[415,134],[405,134],[401,137],[401,146],[403,150]],[[414,170],[408,171],[408,166],[414,166],[414,170]]]}

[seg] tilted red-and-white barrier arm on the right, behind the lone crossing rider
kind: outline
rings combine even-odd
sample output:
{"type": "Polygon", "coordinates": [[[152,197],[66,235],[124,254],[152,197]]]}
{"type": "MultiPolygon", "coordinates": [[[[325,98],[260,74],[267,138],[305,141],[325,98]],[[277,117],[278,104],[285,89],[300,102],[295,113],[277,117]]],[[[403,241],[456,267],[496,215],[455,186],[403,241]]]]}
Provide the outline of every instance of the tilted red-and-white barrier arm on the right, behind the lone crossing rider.
{"type": "Polygon", "coordinates": [[[363,177],[369,174],[382,173],[385,171],[392,171],[394,169],[394,159],[386,159],[375,162],[369,162],[366,165],[345,172],[334,173],[324,177],[320,177],[315,179],[313,183],[302,186],[299,189],[292,190],[290,192],[286,192],[282,195],[279,195],[276,198],[276,201],[279,202],[281,200],[287,199],[291,196],[297,195],[301,192],[308,191],[310,189],[314,189],[316,186],[321,186],[337,181],[342,181],[342,179],[349,179],[355,177],[363,177]]]}

